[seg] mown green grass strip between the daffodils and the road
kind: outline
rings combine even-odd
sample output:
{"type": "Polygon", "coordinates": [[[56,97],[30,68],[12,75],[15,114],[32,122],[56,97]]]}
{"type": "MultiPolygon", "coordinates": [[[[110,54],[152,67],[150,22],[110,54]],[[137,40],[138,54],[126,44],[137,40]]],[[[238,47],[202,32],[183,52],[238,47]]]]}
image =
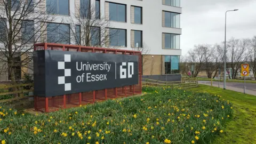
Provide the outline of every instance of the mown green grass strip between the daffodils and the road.
{"type": "Polygon", "coordinates": [[[225,124],[225,132],[214,143],[256,143],[256,97],[218,87],[199,85],[193,91],[219,94],[233,103],[232,121],[225,124]]]}

